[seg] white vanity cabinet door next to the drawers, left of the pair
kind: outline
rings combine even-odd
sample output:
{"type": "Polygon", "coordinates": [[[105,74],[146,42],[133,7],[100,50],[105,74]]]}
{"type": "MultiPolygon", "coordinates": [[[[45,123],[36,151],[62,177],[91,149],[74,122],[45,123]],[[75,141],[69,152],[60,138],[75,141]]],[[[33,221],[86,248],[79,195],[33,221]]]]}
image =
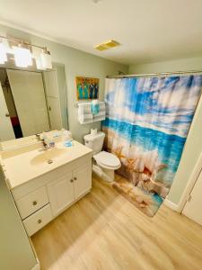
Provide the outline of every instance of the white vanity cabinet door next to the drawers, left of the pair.
{"type": "Polygon", "coordinates": [[[48,196],[54,216],[66,210],[75,199],[72,173],[66,173],[48,184],[48,196]]]}

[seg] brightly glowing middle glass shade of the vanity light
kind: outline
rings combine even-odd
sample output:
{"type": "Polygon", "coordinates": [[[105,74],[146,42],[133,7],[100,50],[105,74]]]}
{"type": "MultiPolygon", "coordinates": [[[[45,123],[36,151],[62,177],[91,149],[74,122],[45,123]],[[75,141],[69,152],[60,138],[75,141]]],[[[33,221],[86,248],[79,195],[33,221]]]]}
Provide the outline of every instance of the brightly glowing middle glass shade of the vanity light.
{"type": "Polygon", "coordinates": [[[29,67],[32,65],[31,51],[21,47],[13,47],[14,61],[17,67],[29,67]]]}

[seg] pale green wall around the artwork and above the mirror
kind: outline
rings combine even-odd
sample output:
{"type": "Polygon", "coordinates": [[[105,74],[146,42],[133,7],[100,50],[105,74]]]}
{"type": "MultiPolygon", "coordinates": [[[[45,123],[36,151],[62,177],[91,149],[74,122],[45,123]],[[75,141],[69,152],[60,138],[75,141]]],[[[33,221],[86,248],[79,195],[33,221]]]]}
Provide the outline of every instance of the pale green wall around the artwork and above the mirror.
{"type": "Polygon", "coordinates": [[[50,50],[52,61],[65,65],[68,121],[69,129],[72,131],[74,139],[83,141],[83,135],[89,133],[92,127],[101,128],[100,121],[84,125],[79,123],[77,109],[75,108],[75,76],[100,78],[100,100],[103,100],[105,77],[108,75],[118,75],[119,71],[127,73],[127,66],[4,25],[0,25],[0,34],[30,41],[32,44],[46,46],[50,50]]]}

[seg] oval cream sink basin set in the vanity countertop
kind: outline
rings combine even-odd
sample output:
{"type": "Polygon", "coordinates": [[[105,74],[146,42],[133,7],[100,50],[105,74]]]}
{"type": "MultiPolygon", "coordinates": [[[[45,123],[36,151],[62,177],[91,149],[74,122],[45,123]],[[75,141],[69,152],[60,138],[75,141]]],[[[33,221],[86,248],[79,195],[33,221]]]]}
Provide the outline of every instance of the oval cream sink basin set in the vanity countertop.
{"type": "Polygon", "coordinates": [[[42,153],[39,153],[36,157],[31,159],[31,165],[40,165],[42,163],[51,164],[56,160],[58,157],[66,154],[66,149],[63,148],[50,148],[44,150],[42,153]]]}

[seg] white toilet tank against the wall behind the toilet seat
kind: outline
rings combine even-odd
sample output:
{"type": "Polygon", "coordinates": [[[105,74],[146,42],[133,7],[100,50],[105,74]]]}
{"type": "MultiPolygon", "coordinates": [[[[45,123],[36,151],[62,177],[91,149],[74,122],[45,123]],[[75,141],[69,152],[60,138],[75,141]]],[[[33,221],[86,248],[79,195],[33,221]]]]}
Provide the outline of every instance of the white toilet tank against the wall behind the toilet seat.
{"type": "Polygon", "coordinates": [[[83,137],[85,146],[92,148],[92,156],[101,152],[104,137],[104,132],[98,132],[96,135],[88,134],[83,137]]]}

